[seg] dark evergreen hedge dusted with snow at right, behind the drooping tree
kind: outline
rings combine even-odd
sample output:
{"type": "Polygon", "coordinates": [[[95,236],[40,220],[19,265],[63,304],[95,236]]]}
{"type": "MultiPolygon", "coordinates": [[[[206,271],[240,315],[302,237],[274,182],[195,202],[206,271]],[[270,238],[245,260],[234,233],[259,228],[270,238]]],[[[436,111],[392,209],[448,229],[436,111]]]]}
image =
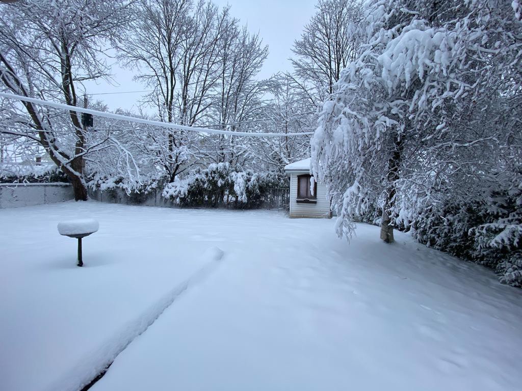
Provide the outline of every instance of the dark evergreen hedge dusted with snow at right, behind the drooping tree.
{"type": "Polygon", "coordinates": [[[507,189],[469,203],[432,205],[413,223],[421,243],[479,263],[500,281],[522,287],[522,191],[507,189]]]}

